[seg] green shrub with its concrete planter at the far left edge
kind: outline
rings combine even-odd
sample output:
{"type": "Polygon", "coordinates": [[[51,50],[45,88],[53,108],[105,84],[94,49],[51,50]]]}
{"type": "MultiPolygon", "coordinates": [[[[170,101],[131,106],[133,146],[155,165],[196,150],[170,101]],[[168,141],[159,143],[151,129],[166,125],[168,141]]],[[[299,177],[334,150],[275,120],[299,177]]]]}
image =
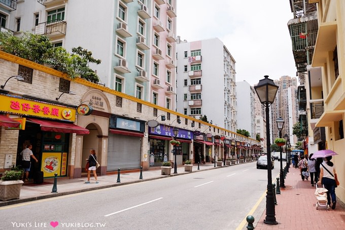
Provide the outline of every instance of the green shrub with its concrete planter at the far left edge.
{"type": "Polygon", "coordinates": [[[20,188],[23,185],[21,180],[24,171],[18,167],[12,167],[11,170],[5,171],[0,180],[0,200],[8,201],[19,199],[20,188]]]}

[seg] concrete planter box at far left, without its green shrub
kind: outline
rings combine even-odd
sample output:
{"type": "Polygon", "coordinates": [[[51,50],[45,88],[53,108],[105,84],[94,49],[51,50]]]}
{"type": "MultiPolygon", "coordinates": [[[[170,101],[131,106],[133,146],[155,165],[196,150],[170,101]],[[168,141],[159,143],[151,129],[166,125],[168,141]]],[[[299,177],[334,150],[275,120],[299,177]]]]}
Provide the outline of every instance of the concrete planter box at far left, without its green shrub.
{"type": "Polygon", "coordinates": [[[0,200],[8,201],[19,199],[20,188],[23,185],[22,180],[0,180],[0,200]]]}

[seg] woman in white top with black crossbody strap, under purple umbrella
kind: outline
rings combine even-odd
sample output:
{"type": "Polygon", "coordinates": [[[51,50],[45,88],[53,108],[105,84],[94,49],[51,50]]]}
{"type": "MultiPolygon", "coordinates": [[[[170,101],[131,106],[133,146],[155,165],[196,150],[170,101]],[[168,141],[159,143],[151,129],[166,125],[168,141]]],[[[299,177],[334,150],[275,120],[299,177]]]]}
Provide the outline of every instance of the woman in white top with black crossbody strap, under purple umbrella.
{"type": "Polygon", "coordinates": [[[335,196],[335,179],[334,175],[335,172],[335,166],[333,162],[331,161],[332,156],[325,157],[325,161],[321,163],[320,165],[320,179],[318,181],[318,184],[323,184],[327,191],[327,202],[328,205],[331,205],[331,198],[332,198],[332,209],[335,209],[336,205],[336,196],[335,196]]]}

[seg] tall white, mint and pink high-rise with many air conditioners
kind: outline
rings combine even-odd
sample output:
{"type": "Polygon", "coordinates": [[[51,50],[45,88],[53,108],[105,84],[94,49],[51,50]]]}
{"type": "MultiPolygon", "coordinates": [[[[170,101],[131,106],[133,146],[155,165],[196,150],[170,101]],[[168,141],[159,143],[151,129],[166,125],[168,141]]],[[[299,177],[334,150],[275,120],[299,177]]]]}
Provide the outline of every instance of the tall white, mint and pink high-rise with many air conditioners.
{"type": "Polygon", "coordinates": [[[0,3],[2,31],[82,47],[99,83],[175,110],[176,0],[31,0],[0,3]]]}

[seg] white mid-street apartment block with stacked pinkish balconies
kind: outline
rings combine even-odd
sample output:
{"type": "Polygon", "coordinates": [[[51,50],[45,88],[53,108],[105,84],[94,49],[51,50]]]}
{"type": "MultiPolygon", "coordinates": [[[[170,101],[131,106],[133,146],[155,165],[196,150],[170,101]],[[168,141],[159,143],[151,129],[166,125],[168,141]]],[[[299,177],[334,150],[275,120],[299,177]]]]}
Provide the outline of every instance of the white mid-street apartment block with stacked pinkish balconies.
{"type": "MultiPolygon", "coordinates": [[[[218,38],[177,39],[177,111],[236,132],[235,60],[218,38]]],[[[203,130],[201,130],[203,131],[203,130]]]]}

